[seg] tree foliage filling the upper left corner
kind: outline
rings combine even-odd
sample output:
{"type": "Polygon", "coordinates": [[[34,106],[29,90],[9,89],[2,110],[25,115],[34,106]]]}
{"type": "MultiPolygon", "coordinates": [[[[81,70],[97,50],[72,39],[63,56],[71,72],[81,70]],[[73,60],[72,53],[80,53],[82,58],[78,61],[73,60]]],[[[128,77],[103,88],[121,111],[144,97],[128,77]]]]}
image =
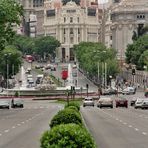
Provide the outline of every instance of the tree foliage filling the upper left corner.
{"type": "Polygon", "coordinates": [[[0,0],[0,50],[12,42],[13,25],[19,25],[23,15],[22,6],[16,0],[0,0]]]}

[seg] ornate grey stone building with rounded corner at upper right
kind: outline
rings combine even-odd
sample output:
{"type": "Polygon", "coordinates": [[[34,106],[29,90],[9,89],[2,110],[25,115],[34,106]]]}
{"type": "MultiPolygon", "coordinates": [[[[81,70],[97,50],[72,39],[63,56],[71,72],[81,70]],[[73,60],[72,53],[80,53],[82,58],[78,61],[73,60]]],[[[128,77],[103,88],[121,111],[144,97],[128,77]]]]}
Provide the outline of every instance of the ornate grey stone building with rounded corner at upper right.
{"type": "Polygon", "coordinates": [[[118,59],[125,59],[127,45],[132,43],[133,31],[148,24],[147,0],[121,0],[109,8],[112,47],[117,50],[118,59]]]}

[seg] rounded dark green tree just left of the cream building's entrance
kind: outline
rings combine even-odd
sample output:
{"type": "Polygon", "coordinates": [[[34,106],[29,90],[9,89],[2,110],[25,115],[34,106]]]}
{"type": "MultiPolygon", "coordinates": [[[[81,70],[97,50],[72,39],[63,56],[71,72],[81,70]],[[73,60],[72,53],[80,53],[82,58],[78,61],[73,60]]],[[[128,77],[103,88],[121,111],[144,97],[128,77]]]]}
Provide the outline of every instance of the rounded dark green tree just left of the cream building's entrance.
{"type": "Polygon", "coordinates": [[[55,58],[56,48],[60,46],[60,42],[54,37],[39,37],[34,43],[34,52],[44,58],[44,55],[50,54],[55,58]]]}

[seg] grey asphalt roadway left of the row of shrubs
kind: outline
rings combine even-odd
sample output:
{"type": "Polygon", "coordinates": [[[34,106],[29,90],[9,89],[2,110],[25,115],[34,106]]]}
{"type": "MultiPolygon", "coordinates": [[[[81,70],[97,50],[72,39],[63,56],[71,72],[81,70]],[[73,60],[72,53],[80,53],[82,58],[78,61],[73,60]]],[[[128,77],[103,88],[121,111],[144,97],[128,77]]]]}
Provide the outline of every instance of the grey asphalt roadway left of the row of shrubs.
{"type": "Polygon", "coordinates": [[[49,120],[62,106],[49,101],[24,102],[24,109],[0,109],[0,148],[39,148],[49,120]]]}

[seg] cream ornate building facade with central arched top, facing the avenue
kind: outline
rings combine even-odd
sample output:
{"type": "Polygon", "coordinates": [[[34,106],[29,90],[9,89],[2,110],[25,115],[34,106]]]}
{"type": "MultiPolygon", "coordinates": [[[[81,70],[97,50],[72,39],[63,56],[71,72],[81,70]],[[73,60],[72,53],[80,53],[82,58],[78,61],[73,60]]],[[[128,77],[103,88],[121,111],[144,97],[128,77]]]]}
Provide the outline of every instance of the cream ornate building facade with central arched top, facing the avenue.
{"type": "Polygon", "coordinates": [[[62,61],[75,60],[73,45],[80,42],[100,42],[101,25],[99,11],[95,7],[81,7],[68,2],[60,9],[44,3],[45,36],[53,36],[60,41],[56,52],[62,61]]]}

